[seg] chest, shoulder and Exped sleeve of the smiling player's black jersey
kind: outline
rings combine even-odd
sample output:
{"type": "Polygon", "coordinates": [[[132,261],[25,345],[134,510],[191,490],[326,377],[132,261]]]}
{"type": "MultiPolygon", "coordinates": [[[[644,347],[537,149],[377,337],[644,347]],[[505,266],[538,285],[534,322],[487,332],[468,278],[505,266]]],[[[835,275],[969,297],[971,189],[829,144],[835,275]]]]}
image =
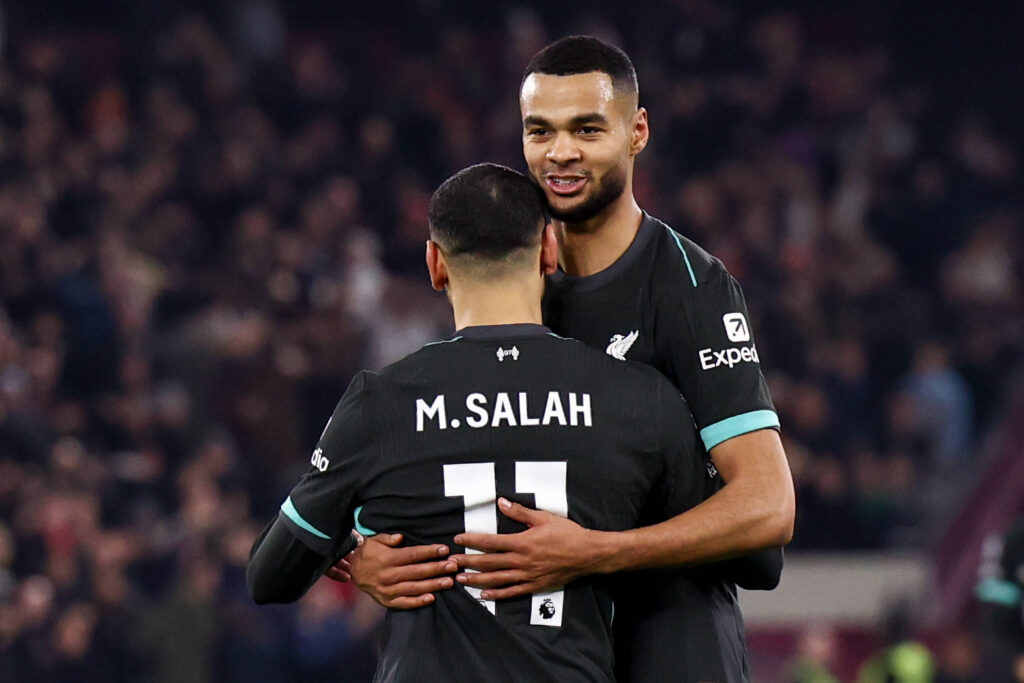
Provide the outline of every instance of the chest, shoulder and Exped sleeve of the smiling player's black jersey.
{"type": "Polygon", "coordinates": [[[683,394],[705,446],[778,417],[742,291],[722,262],[651,216],[612,265],[548,281],[544,322],[560,335],[660,371],[683,394]]]}

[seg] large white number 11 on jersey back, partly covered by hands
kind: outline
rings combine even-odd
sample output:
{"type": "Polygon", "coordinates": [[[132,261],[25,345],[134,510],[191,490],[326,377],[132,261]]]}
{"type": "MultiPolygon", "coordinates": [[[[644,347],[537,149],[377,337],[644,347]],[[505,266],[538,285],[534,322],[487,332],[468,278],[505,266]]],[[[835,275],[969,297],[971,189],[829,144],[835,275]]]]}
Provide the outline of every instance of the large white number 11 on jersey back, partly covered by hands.
{"type": "MultiPolygon", "coordinates": [[[[568,497],[565,493],[565,461],[517,462],[515,464],[515,490],[534,494],[537,507],[562,517],[568,517],[568,497]]],[[[470,533],[497,533],[498,508],[497,483],[494,463],[463,463],[444,465],[444,496],[462,497],[463,518],[470,533]]],[[[477,550],[466,549],[468,553],[477,550]]],[[[492,614],[494,600],[481,600],[480,590],[464,587],[492,614]]],[[[535,593],[530,604],[529,623],[535,626],[560,627],[565,592],[535,593]]]]}

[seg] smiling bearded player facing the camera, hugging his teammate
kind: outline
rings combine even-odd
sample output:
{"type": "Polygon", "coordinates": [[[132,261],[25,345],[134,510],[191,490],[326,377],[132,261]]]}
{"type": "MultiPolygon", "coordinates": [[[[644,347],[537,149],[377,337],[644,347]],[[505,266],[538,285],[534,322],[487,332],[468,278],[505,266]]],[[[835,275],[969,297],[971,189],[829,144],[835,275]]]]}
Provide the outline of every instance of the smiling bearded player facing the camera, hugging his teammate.
{"type": "MultiPolygon", "coordinates": [[[[721,261],[644,213],[633,196],[649,127],[632,62],[595,38],[563,38],[534,57],[519,94],[524,157],[561,247],[546,323],[662,371],[687,400],[721,473],[710,481],[725,484],[668,521],[621,533],[592,533],[513,506],[508,514],[530,528],[457,538],[487,551],[452,557],[481,571],[459,581],[501,599],[584,573],[707,563],[784,545],[793,481],[740,288],[721,261]]],[[[445,565],[402,566],[408,556],[398,552],[366,544],[352,570],[384,604],[415,606],[437,590],[445,565]]],[[[345,566],[336,575],[346,575],[345,566]]],[[[622,679],[746,680],[733,583],[771,588],[780,568],[776,550],[634,579],[616,603],[622,679]]]]}

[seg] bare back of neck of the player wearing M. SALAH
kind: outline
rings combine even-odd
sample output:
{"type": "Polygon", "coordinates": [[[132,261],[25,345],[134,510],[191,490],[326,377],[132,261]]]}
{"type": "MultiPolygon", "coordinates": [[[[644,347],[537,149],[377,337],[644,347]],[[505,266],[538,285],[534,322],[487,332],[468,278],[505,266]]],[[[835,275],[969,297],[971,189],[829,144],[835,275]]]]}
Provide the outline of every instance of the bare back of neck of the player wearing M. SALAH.
{"type": "Polygon", "coordinates": [[[522,280],[453,283],[449,299],[455,329],[483,325],[542,324],[543,281],[524,286],[522,280]]]}

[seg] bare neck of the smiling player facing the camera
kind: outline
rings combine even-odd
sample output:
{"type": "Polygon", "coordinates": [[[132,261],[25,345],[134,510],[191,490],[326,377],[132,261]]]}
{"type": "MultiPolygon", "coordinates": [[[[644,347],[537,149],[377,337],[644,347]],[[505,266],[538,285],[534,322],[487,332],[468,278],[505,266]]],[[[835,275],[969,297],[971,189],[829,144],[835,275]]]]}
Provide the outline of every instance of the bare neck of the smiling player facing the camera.
{"type": "Polygon", "coordinates": [[[559,265],[574,278],[604,270],[633,244],[641,222],[643,212],[631,191],[623,193],[620,201],[590,220],[571,224],[554,221],[559,265]]]}

